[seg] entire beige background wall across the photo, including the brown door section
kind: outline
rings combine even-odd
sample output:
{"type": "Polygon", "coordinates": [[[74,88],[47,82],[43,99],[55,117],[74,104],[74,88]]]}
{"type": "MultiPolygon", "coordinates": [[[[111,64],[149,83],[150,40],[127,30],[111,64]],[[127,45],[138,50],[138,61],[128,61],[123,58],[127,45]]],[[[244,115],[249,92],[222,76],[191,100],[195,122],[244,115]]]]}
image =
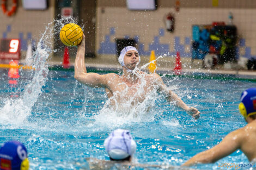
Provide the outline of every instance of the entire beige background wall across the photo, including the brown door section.
{"type": "MultiPolygon", "coordinates": [[[[7,2],[9,9],[12,2],[7,2]]],[[[14,16],[5,16],[0,11],[2,21],[0,38],[21,39],[22,52],[26,52],[27,42],[39,39],[47,24],[58,15],[60,7],[56,5],[57,1],[48,0],[47,10],[24,10],[22,1],[18,2],[14,16]]],[[[94,59],[88,59],[92,63],[104,63],[103,60],[108,59],[109,63],[118,64],[114,56],[116,54],[115,39],[125,37],[137,40],[142,60],[143,56],[148,60],[150,51],[153,49],[156,55],[166,54],[167,58],[179,51],[182,57],[190,59],[192,26],[211,24],[216,21],[228,23],[229,12],[233,14],[233,23],[239,35],[237,42],[239,55],[247,58],[256,56],[256,32],[254,31],[256,21],[253,19],[256,15],[256,1],[254,0],[180,0],[179,11],[175,10],[176,0],[157,0],[157,9],[154,11],[128,10],[126,0],[90,0],[90,2],[92,5],[88,5],[85,1],[76,3],[79,5],[73,8],[75,8],[74,11],[80,11],[80,14],[77,14],[77,22],[84,26],[84,32],[88,34],[87,45],[90,46],[87,52],[96,54],[94,59]],[[172,12],[175,17],[173,33],[167,32],[164,24],[164,17],[169,12],[172,12]],[[94,16],[96,16],[96,22],[94,16]]],[[[70,3],[74,4],[73,1],[70,3]]],[[[54,45],[53,41],[52,44],[54,45]]],[[[75,58],[75,52],[71,54],[72,61],[75,58]]],[[[58,55],[57,59],[61,60],[63,51],[56,55],[58,55]]]]}

